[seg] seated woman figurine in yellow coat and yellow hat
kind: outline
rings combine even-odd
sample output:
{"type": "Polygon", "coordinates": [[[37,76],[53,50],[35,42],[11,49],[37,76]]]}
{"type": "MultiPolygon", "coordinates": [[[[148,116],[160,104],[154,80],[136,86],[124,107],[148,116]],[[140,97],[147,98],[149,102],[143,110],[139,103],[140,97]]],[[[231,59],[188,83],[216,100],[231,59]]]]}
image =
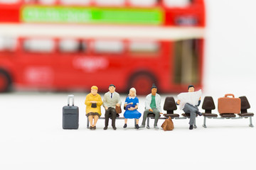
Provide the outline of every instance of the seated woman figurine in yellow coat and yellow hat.
{"type": "Polygon", "coordinates": [[[102,106],[102,98],[99,94],[97,94],[97,91],[97,86],[92,86],[91,93],[87,94],[85,98],[86,115],[90,121],[90,130],[96,129],[97,120],[100,118],[101,115],[100,106],[102,106]],[[93,119],[94,123],[92,124],[93,119]]]}

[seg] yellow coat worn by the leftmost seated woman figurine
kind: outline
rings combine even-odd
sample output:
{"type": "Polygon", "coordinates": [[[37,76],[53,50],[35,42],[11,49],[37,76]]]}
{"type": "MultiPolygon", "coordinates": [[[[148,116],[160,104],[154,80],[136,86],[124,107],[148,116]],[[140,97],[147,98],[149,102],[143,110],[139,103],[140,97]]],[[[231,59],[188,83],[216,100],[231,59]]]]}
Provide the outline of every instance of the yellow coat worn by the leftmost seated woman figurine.
{"type": "Polygon", "coordinates": [[[101,115],[100,106],[102,106],[102,99],[100,94],[96,94],[93,96],[91,93],[87,94],[85,98],[85,105],[86,105],[86,114],[90,112],[99,113],[101,115]],[[97,101],[97,108],[92,108],[92,103],[90,101],[97,101]]]}

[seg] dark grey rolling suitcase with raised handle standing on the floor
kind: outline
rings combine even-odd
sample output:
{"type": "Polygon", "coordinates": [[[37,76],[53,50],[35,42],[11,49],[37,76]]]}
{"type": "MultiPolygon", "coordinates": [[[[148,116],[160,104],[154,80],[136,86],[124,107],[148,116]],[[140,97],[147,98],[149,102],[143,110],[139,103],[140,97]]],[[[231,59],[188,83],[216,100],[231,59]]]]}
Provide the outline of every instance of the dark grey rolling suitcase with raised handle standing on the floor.
{"type": "Polygon", "coordinates": [[[74,95],[68,95],[68,106],[63,107],[63,129],[78,129],[79,108],[74,106],[74,95]],[[72,106],[70,106],[70,98],[72,106]]]}

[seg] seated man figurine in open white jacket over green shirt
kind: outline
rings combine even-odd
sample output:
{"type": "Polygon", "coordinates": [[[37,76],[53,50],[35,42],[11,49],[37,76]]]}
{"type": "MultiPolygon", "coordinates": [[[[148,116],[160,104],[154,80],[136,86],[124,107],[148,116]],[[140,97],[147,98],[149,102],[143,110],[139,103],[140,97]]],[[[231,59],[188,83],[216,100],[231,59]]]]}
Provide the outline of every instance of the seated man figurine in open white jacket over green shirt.
{"type": "Polygon", "coordinates": [[[151,94],[146,96],[146,101],[145,101],[146,110],[144,111],[142,125],[140,126],[140,128],[145,128],[147,115],[149,113],[154,113],[155,115],[154,128],[159,129],[157,127],[157,122],[159,120],[160,114],[163,114],[163,113],[161,113],[161,96],[159,94],[156,94],[156,92],[157,92],[157,87],[153,84],[151,87],[151,94]]]}

